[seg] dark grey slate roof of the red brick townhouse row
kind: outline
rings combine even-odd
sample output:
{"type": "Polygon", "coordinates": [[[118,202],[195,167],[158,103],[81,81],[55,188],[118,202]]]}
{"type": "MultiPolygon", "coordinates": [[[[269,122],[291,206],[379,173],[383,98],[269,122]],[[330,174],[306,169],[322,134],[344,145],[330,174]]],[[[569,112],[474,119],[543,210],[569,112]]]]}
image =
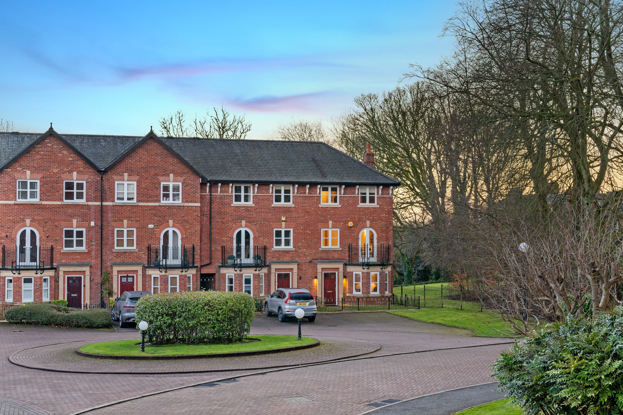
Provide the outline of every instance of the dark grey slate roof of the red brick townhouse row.
{"type": "MultiPolygon", "coordinates": [[[[0,133],[0,169],[39,138],[0,133]]],[[[143,137],[63,134],[94,165],[106,169],[143,137]]],[[[319,142],[161,138],[207,180],[247,183],[376,184],[399,182],[319,142]]]]}

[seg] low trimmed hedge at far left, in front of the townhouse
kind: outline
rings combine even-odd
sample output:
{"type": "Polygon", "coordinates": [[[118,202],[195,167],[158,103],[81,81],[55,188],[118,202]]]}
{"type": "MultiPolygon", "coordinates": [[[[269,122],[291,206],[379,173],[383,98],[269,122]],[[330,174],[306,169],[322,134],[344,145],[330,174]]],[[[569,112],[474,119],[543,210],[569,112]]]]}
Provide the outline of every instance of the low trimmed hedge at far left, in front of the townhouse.
{"type": "Polygon", "coordinates": [[[9,308],[4,314],[9,323],[43,326],[110,327],[110,314],[105,309],[80,310],[50,303],[30,303],[9,308]]]}

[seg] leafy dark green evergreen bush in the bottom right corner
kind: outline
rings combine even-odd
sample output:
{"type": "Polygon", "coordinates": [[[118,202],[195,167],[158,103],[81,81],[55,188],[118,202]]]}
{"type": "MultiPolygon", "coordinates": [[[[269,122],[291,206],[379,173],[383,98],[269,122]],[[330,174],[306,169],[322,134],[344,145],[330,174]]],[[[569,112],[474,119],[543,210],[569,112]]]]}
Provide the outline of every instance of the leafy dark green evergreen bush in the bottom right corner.
{"type": "Polygon", "coordinates": [[[535,332],[493,367],[526,414],[623,414],[623,307],[535,332]]]}

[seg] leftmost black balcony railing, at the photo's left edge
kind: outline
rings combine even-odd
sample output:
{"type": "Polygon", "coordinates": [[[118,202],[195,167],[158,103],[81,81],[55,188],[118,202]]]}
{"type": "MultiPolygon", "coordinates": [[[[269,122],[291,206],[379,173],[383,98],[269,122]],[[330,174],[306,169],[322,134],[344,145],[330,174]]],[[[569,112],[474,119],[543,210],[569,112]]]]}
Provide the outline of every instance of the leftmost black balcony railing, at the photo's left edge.
{"type": "Polygon", "coordinates": [[[10,269],[13,274],[21,270],[35,270],[40,274],[54,268],[54,246],[6,246],[2,245],[2,269],[10,269]]]}

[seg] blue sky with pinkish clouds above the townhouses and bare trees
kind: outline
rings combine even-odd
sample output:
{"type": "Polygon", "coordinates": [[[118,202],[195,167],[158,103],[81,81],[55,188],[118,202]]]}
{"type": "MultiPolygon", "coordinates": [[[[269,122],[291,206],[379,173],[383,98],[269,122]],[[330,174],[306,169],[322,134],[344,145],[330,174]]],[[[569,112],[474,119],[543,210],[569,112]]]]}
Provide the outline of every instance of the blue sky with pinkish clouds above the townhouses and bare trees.
{"type": "MultiPolygon", "coordinates": [[[[143,135],[176,110],[245,113],[249,138],[323,120],[448,54],[454,1],[3,2],[0,118],[143,135]]],[[[156,128],[155,128],[156,130],[156,128]]]]}

